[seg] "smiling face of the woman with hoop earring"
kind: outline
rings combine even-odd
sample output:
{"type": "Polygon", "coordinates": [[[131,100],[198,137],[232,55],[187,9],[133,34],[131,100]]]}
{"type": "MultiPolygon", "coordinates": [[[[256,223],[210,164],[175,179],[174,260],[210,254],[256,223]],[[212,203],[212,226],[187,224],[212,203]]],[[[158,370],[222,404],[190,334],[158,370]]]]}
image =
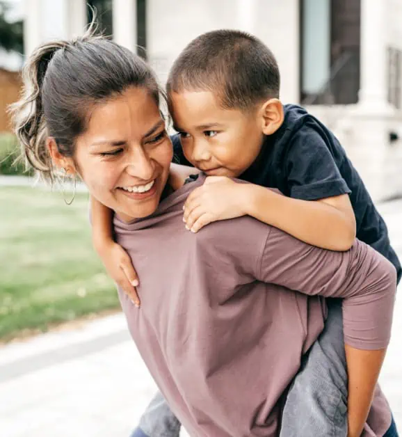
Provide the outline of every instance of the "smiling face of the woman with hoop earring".
{"type": "Polygon", "coordinates": [[[158,207],[172,153],[156,102],[132,87],[95,106],[72,162],[90,194],[131,221],[158,207]]]}

